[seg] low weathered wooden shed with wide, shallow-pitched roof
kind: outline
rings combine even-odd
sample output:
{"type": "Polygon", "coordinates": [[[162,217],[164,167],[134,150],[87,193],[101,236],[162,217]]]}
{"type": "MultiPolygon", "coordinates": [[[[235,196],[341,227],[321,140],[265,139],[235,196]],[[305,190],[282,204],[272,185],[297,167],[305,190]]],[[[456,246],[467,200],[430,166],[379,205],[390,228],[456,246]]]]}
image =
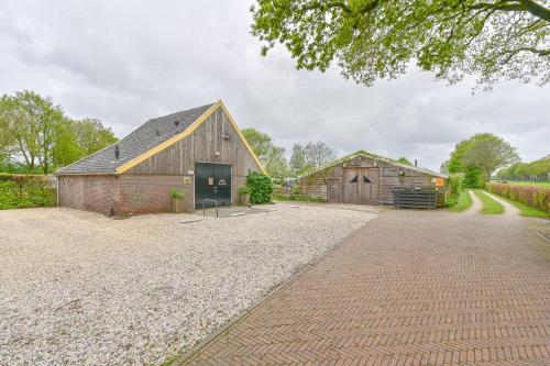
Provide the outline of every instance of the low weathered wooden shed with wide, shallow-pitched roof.
{"type": "Polygon", "coordinates": [[[329,202],[394,204],[399,188],[437,188],[442,204],[447,176],[359,151],[300,177],[300,195],[329,202]]]}

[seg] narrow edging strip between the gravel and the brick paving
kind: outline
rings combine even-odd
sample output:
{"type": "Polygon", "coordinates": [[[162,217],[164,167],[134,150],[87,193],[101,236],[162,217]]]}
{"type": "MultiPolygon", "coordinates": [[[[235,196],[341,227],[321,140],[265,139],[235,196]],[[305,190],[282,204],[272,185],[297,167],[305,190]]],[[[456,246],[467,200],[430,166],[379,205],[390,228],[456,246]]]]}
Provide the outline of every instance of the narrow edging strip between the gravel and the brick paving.
{"type": "MultiPolygon", "coordinates": [[[[381,213],[378,213],[381,214],[381,213]]],[[[356,230],[352,231],[349,233],[346,236],[342,237],[334,246],[327,252],[324,252],[320,257],[316,258],[311,263],[306,264],[302,268],[300,268],[295,275],[293,275],[290,278],[282,281],[278,285],[275,285],[271,290],[267,291],[264,296],[260,297],[256,301],[254,301],[249,308],[244,309],[233,318],[229,319],[226,324],[221,325],[217,331],[208,335],[206,339],[202,341],[198,342],[196,345],[194,345],[189,351],[183,353],[182,355],[176,355],[173,356],[165,362],[161,364],[161,366],[184,366],[188,361],[193,358],[196,354],[200,353],[200,351],[206,347],[208,344],[211,342],[215,342],[218,340],[220,336],[226,334],[228,330],[235,323],[238,323],[241,320],[244,320],[255,308],[260,307],[262,303],[266,302],[280,291],[283,291],[285,288],[290,286],[293,282],[297,281],[304,274],[306,274],[308,270],[310,270],[312,267],[318,265],[321,260],[327,258],[331,253],[336,252],[338,248],[340,248],[345,242],[348,242],[350,239],[355,236],[363,228],[369,225],[371,221],[376,220],[378,215],[373,218],[372,220],[365,222],[364,225],[361,225],[361,228],[358,228],[356,230]]]]}

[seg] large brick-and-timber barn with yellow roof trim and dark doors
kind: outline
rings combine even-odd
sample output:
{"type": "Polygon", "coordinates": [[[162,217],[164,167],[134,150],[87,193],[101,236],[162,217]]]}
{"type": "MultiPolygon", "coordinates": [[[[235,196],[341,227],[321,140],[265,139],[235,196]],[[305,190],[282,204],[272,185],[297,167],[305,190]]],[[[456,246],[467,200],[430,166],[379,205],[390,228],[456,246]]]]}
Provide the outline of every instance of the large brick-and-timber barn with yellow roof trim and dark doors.
{"type": "Polygon", "coordinates": [[[251,171],[265,173],[220,100],[151,119],[59,169],[58,202],[110,214],[166,212],[177,189],[187,211],[212,199],[231,206],[251,171]]]}

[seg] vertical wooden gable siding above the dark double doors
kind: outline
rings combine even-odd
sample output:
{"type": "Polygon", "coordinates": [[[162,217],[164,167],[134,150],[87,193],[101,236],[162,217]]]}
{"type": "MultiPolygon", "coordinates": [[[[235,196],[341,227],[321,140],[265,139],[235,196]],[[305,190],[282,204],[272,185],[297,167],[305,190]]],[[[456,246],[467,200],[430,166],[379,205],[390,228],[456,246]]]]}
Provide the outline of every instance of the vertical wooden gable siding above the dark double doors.
{"type": "Polygon", "coordinates": [[[232,174],[245,177],[249,170],[260,171],[246,146],[218,108],[189,136],[151,156],[125,174],[188,175],[195,170],[195,163],[219,163],[232,165],[232,174]],[[229,135],[229,138],[223,138],[229,135]],[[216,155],[216,153],[219,155],[216,155]]]}

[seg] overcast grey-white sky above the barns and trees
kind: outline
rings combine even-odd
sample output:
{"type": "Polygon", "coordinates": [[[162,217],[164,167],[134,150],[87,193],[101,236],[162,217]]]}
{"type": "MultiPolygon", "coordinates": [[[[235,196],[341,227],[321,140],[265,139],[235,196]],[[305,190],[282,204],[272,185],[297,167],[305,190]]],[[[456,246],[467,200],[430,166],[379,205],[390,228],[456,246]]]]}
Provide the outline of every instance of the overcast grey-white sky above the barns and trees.
{"type": "Polygon", "coordinates": [[[493,132],[524,160],[550,153],[550,87],[517,82],[472,96],[416,69],[374,87],[337,69],[260,56],[252,1],[0,0],[0,92],[31,89],[122,137],[147,119],[222,99],[241,127],[289,151],[324,141],[439,169],[457,142],[493,132]]]}

